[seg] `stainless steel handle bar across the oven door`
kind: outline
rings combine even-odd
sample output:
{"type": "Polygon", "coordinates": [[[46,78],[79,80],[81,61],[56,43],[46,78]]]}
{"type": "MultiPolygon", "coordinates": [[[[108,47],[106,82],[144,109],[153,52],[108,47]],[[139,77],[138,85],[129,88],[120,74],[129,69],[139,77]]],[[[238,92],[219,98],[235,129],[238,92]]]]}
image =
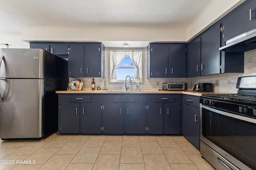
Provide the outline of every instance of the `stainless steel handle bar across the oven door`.
{"type": "Polygon", "coordinates": [[[215,113],[219,113],[221,115],[225,115],[225,116],[228,116],[228,117],[232,117],[232,118],[235,118],[235,119],[239,119],[239,120],[243,120],[243,121],[247,121],[247,122],[251,122],[251,123],[256,124],[256,119],[253,119],[253,118],[250,118],[250,117],[236,115],[236,114],[233,114],[233,113],[229,113],[229,112],[226,112],[226,111],[221,111],[221,110],[214,109],[212,107],[208,107],[208,106],[204,106],[204,105],[202,105],[202,108],[213,111],[215,113]]]}

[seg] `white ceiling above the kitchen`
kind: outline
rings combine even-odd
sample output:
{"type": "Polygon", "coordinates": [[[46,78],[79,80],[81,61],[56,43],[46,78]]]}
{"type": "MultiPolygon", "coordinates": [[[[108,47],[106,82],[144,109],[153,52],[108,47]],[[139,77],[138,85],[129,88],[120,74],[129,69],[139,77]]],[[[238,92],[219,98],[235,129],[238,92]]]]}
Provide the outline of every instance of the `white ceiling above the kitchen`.
{"type": "Polygon", "coordinates": [[[0,0],[0,34],[22,26],[187,28],[214,0],[0,0]]]}

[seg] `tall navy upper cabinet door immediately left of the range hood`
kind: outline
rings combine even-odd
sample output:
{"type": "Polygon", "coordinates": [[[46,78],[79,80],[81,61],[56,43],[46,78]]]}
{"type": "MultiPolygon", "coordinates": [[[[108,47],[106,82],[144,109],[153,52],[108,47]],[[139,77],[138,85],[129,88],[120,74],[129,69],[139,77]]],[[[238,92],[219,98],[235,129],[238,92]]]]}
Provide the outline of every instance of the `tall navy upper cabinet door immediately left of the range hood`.
{"type": "Polygon", "coordinates": [[[201,36],[201,76],[220,73],[220,24],[201,36]]]}

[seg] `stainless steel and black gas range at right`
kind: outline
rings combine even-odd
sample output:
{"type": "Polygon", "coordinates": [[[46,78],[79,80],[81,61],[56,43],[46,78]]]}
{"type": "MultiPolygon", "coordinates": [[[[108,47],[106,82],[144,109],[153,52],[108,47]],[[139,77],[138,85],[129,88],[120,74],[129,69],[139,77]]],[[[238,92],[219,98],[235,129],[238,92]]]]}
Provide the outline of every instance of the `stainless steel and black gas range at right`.
{"type": "Polygon", "coordinates": [[[256,170],[256,76],[200,98],[200,152],[217,170],[256,170]]]}

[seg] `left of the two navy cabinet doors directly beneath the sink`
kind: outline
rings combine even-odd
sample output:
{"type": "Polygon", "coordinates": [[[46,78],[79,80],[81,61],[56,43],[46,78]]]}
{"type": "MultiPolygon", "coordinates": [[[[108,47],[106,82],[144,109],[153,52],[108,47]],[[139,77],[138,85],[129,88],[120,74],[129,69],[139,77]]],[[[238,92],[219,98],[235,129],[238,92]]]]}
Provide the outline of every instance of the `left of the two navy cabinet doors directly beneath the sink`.
{"type": "Polygon", "coordinates": [[[102,128],[103,133],[124,133],[123,103],[102,104],[102,128]]]}

